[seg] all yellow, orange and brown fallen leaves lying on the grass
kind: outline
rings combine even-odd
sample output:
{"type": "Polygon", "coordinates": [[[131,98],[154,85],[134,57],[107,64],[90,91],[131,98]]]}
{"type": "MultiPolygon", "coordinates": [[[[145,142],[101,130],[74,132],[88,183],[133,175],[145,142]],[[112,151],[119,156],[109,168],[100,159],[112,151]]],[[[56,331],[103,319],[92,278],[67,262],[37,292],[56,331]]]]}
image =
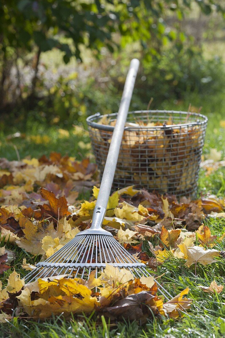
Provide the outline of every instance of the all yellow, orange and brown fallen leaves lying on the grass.
{"type": "MultiPolygon", "coordinates": [[[[7,161],[0,159],[0,227],[2,243],[13,243],[29,252],[34,261],[44,260],[90,227],[99,189],[96,166],[88,159],[51,153],[50,158],[7,161]],[[79,192],[93,187],[89,201],[79,201],[79,192]]],[[[195,201],[160,196],[133,186],[115,191],[109,198],[103,227],[151,272],[167,259],[183,260],[187,267],[211,264],[224,253],[213,248],[225,234],[212,236],[202,221],[208,215],[224,217],[224,200],[215,196],[195,201]],[[144,247],[144,249],[143,249],[144,247]]],[[[15,254],[0,248],[0,273],[14,266],[15,254]]],[[[24,270],[33,266],[24,258],[24,270]]],[[[7,272],[6,272],[7,273],[7,272]]],[[[154,272],[157,278],[157,275],[154,272]]],[[[206,292],[221,292],[215,282],[206,292]]],[[[24,284],[14,271],[1,285],[0,318],[14,316],[46,318],[51,314],[95,310],[111,319],[142,319],[166,315],[182,316],[191,300],[188,289],[171,300],[157,294],[153,277],[136,279],[130,271],[107,265],[97,278],[88,281],[66,276],[38,279],[24,284]]]]}

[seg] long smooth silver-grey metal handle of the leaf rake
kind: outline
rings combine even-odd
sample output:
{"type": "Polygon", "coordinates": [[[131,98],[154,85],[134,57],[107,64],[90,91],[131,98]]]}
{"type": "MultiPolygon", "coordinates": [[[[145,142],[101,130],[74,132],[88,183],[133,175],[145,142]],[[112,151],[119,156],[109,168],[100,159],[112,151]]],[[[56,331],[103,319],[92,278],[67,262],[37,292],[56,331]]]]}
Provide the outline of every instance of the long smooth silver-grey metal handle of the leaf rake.
{"type": "Polygon", "coordinates": [[[106,159],[105,169],[102,176],[102,182],[100,184],[95,209],[93,212],[92,224],[89,230],[102,230],[102,223],[106,214],[106,208],[112,188],[113,178],[123,136],[123,130],[127,121],[127,114],[134,90],[138,67],[139,60],[132,59],[123,88],[116,125],[114,127],[109,152],[106,159]]]}

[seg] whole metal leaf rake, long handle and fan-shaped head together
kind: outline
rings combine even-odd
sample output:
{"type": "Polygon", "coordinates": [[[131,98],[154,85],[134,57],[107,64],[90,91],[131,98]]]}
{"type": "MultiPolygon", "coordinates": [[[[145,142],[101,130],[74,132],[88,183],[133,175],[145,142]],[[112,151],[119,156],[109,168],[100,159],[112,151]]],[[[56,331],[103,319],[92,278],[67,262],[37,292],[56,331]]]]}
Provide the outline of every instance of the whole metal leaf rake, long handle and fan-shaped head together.
{"type": "MultiPolygon", "coordinates": [[[[78,233],[46,261],[38,263],[26,276],[25,281],[60,274],[88,279],[91,271],[95,270],[97,277],[106,264],[112,264],[118,269],[127,268],[136,277],[150,276],[145,264],[138,262],[111,233],[102,228],[138,67],[139,61],[133,59],[123,89],[90,229],[78,233]]],[[[156,283],[167,299],[166,294],[171,297],[157,281],[156,283]]]]}

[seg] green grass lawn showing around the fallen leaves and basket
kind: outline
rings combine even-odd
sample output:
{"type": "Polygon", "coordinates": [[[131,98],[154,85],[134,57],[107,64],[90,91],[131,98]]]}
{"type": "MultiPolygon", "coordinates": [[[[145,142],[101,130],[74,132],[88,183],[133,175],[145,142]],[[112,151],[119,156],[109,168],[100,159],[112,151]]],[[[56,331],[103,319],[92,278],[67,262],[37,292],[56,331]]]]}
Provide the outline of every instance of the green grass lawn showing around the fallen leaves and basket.
{"type": "MultiPolygon", "coordinates": [[[[203,106],[201,113],[208,116],[208,128],[205,140],[204,155],[210,152],[211,148],[222,150],[224,154],[225,132],[220,121],[225,120],[225,101],[221,94],[217,97],[199,98],[196,95],[186,99],[186,102],[174,104],[167,102],[167,109],[185,110],[189,102],[193,106],[203,106]]],[[[159,107],[160,108],[160,107],[159,107]]],[[[55,126],[41,125],[33,121],[27,121],[23,130],[17,130],[14,126],[0,136],[1,149],[0,157],[8,160],[22,159],[25,156],[39,158],[40,155],[49,155],[51,151],[60,152],[62,155],[69,154],[81,160],[91,155],[89,136],[82,129],[74,127],[59,129],[55,126]],[[13,136],[17,131],[21,132],[19,137],[13,136]],[[8,137],[8,138],[7,138],[8,137]]],[[[93,156],[92,156],[93,160],[93,156]]],[[[200,171],[198,194],[213,193],[224,196],[224,168],[219,169],[210,176],[205,176],[200,171]]],[[[85,196],[88,198],[88,195],[85,196]]],[[[212,235],[221,236],[225,232],[225,220],[207,218],[205,225],[210,227],[212,235]]],[[[224,250],[222,243],[216,243],[213,248],[224,250]]],[[[3,243],[2,243],[3,245],[3,243]]],[[[1,246],[2,246],[1,245],[1,246]]],[[[29,254],[23,249],[7,243],[9,249],[16,251],[15,266],[17,271],[23,275],[19,267],[23,257],[29,260],[29,254]]],[[[32,261],[33,262],[33,261],[32,261]]],[[[5,272],[4,280],[8,272],[5,272]]],[[[12,272],[12,270],[11,270],[12,272]]],[[[163,276],[160,282],[172,295],[177,294],[186,287],[190,288],[189,298],[193,299],[191,310],[181,319],[167,319],[165,317],[148,320],[146,324],[140,325],[138,321],[121,321],[110,323],[104,317],[92,313],[90,317],[81,315],[72,317],[66,321],[63,316],[34,321],[32,318],[18,319],[17,317],[2,324],[0,335],[2,337],[221,337],[225,336],[225,293],[205,293],[198,286],[208,286],[211,281],[216,280],[217,284],[224,285],[225,265],[222,261],[207,266],[199,265],[186,267],[181,260],[171,258],[158,266],[158,275],[163,276]]]]}

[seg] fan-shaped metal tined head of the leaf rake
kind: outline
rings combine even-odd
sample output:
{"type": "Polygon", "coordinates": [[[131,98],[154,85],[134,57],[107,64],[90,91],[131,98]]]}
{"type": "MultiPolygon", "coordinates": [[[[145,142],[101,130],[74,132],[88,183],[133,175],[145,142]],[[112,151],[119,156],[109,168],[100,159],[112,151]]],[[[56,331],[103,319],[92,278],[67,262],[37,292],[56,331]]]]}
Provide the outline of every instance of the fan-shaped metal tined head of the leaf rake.
{"type": "MultiPolygon", "coordinates": [[[[100,234],[88,234],[86,231],[77,234],[70,242],[64,245],[44,262],[36,264],[26,277],[26,282],[37,278],[67,274],[70,278],[88,279],[91,271],[103,272],[106,264],[114,267],[126,268],[135,277],[151,276],[146,265],[138,262],[129,252],[119,244],[111,233],[102,229],[100,234]]],[[[171,297],[170,294],[155,280],[159,291],[171,297]]]]}

